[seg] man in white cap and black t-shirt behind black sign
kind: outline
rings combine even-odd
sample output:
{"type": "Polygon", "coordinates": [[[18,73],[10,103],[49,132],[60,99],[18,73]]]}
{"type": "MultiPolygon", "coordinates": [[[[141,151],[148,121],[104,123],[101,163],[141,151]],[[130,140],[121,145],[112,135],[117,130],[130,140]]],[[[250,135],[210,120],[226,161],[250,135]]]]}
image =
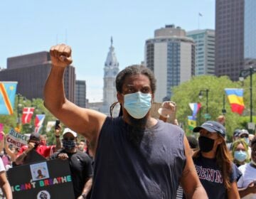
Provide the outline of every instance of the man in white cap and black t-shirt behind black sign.
{"type": "Polygon", "coordinates": [[[50,159],[68,159],[75,198],[83,199],[87,198],[92,188],[92,163],[86,153],[76,149],[76,141],[77,134],[68,128],[64,129],[63,149],[53,154],[50,159]]]}

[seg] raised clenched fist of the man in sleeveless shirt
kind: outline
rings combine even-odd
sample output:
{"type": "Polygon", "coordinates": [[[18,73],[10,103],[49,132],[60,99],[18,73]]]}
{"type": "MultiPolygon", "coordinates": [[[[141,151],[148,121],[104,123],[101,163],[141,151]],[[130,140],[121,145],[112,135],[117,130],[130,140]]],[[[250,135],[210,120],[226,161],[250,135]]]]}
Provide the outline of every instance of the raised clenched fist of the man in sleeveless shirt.
{"type": "Polygon", "coordinates": [[[69,45],[58,44],[50,48],[52,65],[65,68],[72,63],[71,48],[69,45]]]}

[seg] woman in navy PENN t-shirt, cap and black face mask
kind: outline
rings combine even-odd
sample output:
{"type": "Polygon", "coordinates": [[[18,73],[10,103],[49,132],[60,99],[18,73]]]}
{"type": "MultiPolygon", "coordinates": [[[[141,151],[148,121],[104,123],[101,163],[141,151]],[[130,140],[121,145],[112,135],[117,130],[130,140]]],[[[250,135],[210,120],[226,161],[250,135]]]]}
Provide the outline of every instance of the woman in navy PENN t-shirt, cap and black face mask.
{"type": "Polygon", "coordinates": [[[240,198],[237,181],[241,174],[225,144],[225,127],[214,121],[193,129],[199,132],[199,149],[193,154],[199,179],[209,198],[240,198]]]}

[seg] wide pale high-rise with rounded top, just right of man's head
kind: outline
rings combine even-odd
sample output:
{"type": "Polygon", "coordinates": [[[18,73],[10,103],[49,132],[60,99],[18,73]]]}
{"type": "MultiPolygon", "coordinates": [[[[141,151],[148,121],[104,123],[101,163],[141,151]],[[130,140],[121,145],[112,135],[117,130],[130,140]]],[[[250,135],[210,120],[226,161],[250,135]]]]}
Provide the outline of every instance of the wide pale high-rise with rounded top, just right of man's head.
{"type": "Polygon", "coordinates": [[[156,77],[155,102],[171,99],[171,88],[195,74],[195,45],[186,31],[174,25],[154,32],[146,40],[145,65],[156,77]]]}

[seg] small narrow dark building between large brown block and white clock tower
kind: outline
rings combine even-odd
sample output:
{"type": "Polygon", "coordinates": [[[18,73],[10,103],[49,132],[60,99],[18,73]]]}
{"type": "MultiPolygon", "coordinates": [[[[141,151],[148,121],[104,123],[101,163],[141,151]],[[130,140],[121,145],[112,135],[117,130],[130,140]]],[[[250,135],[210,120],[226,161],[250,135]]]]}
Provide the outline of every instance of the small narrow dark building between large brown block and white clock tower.
{"type": "Polygon", "coordinates": [[[79,107],[87,108],[85,80],[75,80],[75,104],[79,107]]]}

